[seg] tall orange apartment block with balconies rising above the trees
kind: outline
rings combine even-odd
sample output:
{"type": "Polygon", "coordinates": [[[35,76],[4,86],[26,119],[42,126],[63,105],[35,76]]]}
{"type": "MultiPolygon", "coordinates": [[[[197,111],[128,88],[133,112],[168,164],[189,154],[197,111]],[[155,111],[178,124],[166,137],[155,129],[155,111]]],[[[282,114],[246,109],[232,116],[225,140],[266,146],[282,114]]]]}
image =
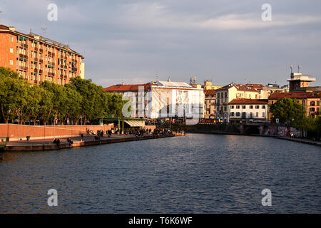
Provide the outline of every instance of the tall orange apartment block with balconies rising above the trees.
{"type": "Polygon", "coordinates": [[[84,78],[83,58],[62,43],[0,25],[0,66],[16,71],[29,83],[46,80],[63,85],[70,78],[84,78]]]}

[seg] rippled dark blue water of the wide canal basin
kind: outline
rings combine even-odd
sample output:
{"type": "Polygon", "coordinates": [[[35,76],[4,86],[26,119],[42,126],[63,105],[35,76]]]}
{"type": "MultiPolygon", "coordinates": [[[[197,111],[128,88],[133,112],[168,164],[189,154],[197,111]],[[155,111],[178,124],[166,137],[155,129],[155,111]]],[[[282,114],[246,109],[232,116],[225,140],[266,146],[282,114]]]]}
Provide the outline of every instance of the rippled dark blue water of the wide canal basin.
{"type": "Polygon", "coordinates": [[[320,147],[188,134],[0,161],[0,212],[320,213],[320,147]],[[49,207],[49,189],[58,207],[49,207]],[[261,191],[272,191],[263,207],[261,191]]]}

